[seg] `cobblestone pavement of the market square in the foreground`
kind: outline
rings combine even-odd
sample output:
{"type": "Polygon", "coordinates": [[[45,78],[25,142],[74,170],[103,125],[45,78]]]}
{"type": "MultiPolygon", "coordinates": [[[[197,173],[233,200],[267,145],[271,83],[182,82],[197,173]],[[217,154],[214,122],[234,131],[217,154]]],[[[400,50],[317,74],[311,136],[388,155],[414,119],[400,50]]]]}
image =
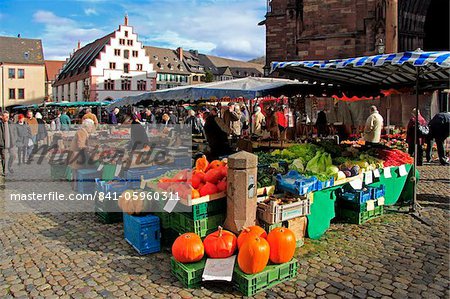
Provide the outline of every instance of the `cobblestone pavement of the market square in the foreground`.
{"type": "MultiPolygon", "coordinates": [[[[297,278],[257,298],[449,298],[449,168],[423,166],[427,226],[402,213],[333,224],[299,250],[297,278]]],[[[26,186],[25,186],[26,187],[26,186]]],[[[217,283],[182,288],[167,251],[139,256],[122,224],[92,213],[8,213],[0,201],[0,298],[231,298],[217,283]]]]}

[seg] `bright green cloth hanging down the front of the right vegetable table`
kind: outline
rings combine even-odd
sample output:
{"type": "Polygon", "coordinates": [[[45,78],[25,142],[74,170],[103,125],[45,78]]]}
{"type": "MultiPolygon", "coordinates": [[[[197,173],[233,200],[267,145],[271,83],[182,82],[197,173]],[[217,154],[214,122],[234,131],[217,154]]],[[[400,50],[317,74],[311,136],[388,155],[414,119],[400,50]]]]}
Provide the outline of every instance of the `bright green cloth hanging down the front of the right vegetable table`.
{"type": "MultiPolygon", "coordinates": [[[[371,187],[378,187],[384,185],[385,192],[385,206],[395,205],[399,199],[408,202],[412,198],[413,183],[411,178],[413,176],[413,167],[410,164],[405,165],[407,174],[400,176],[399,167],[391,167],[391,176],[386,178],[383,171],[380,171],[380,177],[375,179],[375,182],[370,184],[371,187]]],[[[418,179],[419,173],[416,172],[418,179]]],[[[311,204],[310,215],[308,215],[308,236],[311,239],[319,239],[330,227],[331,220],[336,216],[336,190],[342,185],[333,186],[313,194],[313,203],[311,204]]]]}

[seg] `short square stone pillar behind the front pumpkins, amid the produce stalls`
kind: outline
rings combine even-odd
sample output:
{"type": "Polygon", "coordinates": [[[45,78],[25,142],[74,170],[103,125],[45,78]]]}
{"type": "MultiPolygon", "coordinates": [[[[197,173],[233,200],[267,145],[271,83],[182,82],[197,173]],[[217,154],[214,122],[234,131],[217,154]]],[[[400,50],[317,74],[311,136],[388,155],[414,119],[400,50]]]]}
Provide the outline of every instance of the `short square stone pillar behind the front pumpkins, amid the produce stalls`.
{"type": "Polygon", "coordinates": [[[225,228],[238,233],[255,225],[258,157],[245,151],[228,157],[227,218],[225,228]]]}

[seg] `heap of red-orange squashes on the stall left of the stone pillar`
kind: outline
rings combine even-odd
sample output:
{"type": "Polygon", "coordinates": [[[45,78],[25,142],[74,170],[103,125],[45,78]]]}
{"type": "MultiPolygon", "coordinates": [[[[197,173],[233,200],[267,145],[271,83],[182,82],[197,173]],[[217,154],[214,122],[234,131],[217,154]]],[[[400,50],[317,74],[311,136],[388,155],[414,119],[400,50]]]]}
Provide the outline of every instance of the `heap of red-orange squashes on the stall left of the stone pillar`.
{"type": "Polygon", "coordinates": [[[226,160],[208,162],[205,156],[197,159],[193,170],[182,170],[174,177],[163,177],[158,189],[178,193],[180,198],[199,198],[227,191],[228,166],[226,160]]]}

